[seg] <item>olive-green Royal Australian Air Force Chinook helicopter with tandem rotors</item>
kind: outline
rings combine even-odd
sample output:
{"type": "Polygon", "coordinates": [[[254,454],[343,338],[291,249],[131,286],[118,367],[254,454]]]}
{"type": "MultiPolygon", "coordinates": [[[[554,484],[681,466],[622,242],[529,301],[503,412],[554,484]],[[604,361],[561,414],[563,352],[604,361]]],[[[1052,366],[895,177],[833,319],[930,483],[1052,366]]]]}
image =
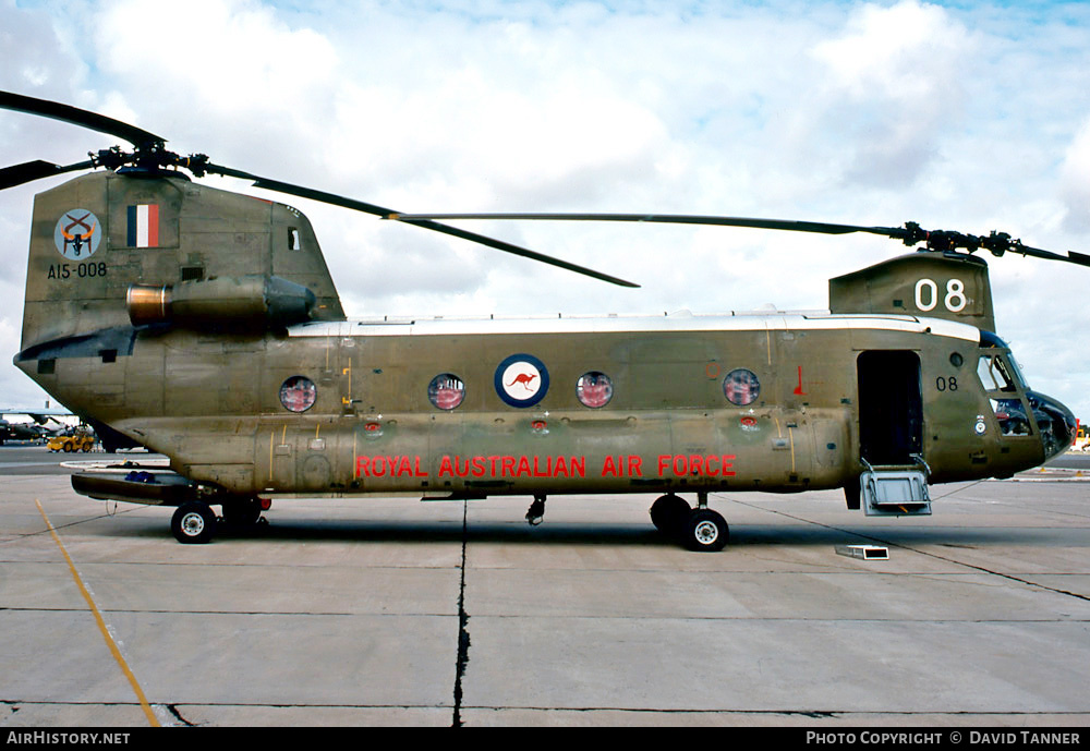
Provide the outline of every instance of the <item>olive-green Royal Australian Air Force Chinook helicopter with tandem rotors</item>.
{"type": "Polygon", "coordinates": [[[400,214],[180,156],[68,105],[0,93],[0,108],[132,145],[0,170],[0,189],[93,170],[35,198],[14,363],[107,447],[169,458],[169,469],[77,473],[72,485],[175,507],[182,543],[208,542],[220,522],[256,524],[277,496],[532,496],[537,523],[548,496],[608,493],[659,494],[656,528],[719,550],[728,525],[713,492],[844,488],[867,514],[928,514],[930,485],[1008,477],[1074,439],[1070,411],[1030,390],[995,335],[988,264],[972,253],[1090,256],[913,222],[400,214]],[[443,222],[701,223],[922,245],[829,280],[821,314],[350,320],[306,217],[185,171],[627,287],[443,222]]]}

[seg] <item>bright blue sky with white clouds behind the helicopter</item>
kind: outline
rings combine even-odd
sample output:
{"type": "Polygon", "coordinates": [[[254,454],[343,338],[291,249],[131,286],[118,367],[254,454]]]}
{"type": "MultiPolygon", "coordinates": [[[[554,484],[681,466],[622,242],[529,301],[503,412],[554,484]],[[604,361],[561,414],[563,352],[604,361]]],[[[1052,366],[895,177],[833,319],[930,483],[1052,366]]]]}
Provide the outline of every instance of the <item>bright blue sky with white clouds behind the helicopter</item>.
{"type": "MultiPolygon", "coordinates": [[[[0,0],[0,88],[402,211],[915,220],[1090,253],[1082,2],[0,0]]],[[[113,143],[0,113],[0,165],[113,143]]],[[[46,398],[10,356],[33,196],[61,181],[0,194],[7,403],[46,398]]],[[[829,277],[903,251],[869,235],[467,225],[642,284],[628,290],[286,202],[311,218],[350,316],[823,308],[829,277]]],[[[1090,419],[1090,268],[991,268],[998,334],[1030,385],[1090,419]]]]}

